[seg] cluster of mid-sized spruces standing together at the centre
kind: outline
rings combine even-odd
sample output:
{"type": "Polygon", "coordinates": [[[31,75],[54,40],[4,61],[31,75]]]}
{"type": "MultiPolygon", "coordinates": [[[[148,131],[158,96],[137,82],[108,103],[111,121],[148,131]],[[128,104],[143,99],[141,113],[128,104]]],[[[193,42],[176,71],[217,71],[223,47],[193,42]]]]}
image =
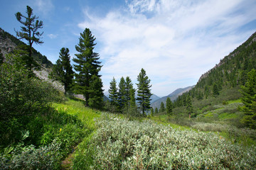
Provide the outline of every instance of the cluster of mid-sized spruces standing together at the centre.
{"type": "Polygon", "coordinates": [[[110,82],[109,98],[110,98],[110,111],[127,113],[136,115],[142,113],[146,116],[146,112],[151,109],[151,85],[150,79],[146,76],[146,71],[142,68],[137,77],[137,98],[135,98],[135,91],[132,80],[129,77],[122,77],[117,87],[117,81],[112,79],[110,82]],[[137,107],[138,103],[138,107],[137,107]],[[139,108],[139,110],[137,110],[139,108]]]}

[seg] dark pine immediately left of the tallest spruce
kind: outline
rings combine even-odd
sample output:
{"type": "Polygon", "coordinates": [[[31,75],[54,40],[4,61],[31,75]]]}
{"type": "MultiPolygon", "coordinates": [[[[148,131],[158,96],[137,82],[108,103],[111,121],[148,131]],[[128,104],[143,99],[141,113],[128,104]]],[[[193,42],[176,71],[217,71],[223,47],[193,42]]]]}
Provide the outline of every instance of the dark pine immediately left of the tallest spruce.
{"type": "Polygon", "coordinates": [[[50,78],[60,81],[64,85],[65,94],[70,90],[73,83],[73,67],[70,64],[70,55],[68,48],[60,49],[60,58],[53,65],[53,71],[50,72],[50,78]]]}

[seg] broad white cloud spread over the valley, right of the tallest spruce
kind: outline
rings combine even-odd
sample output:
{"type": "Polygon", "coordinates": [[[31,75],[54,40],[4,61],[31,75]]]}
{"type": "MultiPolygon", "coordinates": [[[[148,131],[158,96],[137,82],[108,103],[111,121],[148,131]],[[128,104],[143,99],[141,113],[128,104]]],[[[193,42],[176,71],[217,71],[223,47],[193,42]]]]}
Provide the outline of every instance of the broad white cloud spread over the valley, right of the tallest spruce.
{"type": "Polygon", "coordinates": [[[129,76],[134,84],[140,69],[154,83],[152,92],[164,96],[196,84],[201,74],[235,49],[252,30],[239,28],[256,19],[255,1],[126,1],[127,10],[110,11],[103,18],[85,10],[98,51],[105,60],[101,74],[107,87],[129,76]],[[89,19],[88,19],[89,18],[89,19]]]}

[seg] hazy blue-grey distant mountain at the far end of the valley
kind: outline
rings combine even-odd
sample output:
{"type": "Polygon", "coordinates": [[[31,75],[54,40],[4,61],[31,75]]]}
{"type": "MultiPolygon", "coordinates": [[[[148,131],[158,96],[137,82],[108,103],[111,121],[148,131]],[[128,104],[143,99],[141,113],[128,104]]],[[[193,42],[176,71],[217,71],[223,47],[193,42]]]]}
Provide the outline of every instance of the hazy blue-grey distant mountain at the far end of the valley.
{"type": "Polygon", "coordinates": [[[157,99],[156,101],[151,102],[151,107],[152,108],[160,108],[161,102],[166,104],[166,99],[167,98],[170,98],[171,101],[175,101],[176,98],[178,98],[178,96],[180,96],[183,93],[186,93],[187,91],[191,90],[193,87],[194,86],[188,86],[188,87],[185,87],[185,88],[176,89],[174,92],[172,92],[168,96],[164,96],[162,98],[157,99]]]}

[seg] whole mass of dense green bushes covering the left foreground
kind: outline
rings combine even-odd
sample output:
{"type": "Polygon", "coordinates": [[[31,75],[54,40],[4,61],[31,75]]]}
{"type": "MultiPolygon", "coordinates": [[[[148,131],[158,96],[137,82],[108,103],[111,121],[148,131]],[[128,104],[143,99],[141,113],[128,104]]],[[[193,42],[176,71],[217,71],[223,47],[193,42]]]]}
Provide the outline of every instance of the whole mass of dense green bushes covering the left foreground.
{"type": "Polygon", "coordinates": [[[0,66],[0,169],[59,169],[85,135],[75,115],[51,107],[63,96],[29,77],[19,58],[0,66]]]}

